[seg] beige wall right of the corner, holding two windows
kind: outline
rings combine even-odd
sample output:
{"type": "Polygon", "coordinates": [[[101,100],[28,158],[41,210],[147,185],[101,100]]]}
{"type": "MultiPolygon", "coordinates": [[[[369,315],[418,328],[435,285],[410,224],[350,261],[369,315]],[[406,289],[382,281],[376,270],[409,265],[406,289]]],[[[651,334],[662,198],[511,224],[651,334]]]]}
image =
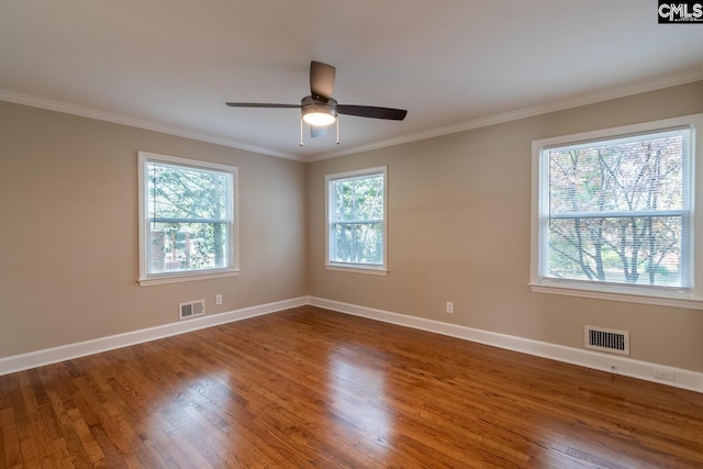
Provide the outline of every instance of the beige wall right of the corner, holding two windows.
{"type": "Polygon", "coordinates": [[[311,164],[310,294],[578,348],[584,325],[627,330],[632,358],[703,371],[703,311],[527,286],[532,141],[700,112],[703,81],[311,164]],[[325,175],[381,165],[389,275],[326,270],[325,175]]]}

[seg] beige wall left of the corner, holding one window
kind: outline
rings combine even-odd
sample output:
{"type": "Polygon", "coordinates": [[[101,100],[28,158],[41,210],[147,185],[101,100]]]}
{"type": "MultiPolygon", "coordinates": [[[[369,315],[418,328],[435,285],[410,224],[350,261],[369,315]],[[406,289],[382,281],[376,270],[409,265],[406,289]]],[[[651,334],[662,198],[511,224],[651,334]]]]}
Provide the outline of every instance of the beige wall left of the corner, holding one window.
{"type": "Polygon", "coordinates": [[[305,165],[0,102],[0,357],[306,294],[305,165]],[[239,168],[238,277],[140,287],[137,150],[239,168]],[[214,295],[222,293],[222,305],[214,295]]]}

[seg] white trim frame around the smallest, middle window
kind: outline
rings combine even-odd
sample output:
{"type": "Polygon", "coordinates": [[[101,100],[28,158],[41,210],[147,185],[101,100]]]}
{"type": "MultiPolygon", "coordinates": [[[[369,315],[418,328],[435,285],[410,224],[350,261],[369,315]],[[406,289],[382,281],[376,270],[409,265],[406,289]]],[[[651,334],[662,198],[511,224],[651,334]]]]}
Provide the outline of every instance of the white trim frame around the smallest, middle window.
{"type": "Polygon", "coordinates": [[[325,268],[344,272],[388,275],[388,166],[337,172],[325,176],[325,268]],[[330,260],[330,235],[332,231],[332,204],[330,203],[330,182],[361,176],[383,175],[383,263],[381,265],[335,263],[330,260]]]}

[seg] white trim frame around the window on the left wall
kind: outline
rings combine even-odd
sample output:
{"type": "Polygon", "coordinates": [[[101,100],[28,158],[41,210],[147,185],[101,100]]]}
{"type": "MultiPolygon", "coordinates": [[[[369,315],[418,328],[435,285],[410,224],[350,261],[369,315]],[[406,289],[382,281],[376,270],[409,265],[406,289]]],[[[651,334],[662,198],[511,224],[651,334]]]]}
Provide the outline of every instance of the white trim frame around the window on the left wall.
{"type": "Polygon", "coordinates": [[[142,287],[149,287],[164,283],[176,283],[194,280],[209,280],[223,277],[235,277],[239,275],[239,209],[238,209],[238,168],[235,166],[220,165],[216,163],[202,161],[198,159],[180,158],[169,155],[159,155],[156,153],[137,152],[138,161],[138,237],[140,237],[140,278],[137,281],[142,287]],[[198,270],[190,272],[167,272],[167,273],[152,273],[147,271],[146,254],[148,244],[148,198],[146,197],[146,174],[144,171],[148,161],[170,163],[175,165],[181,165],[186,167],[203,168],[203,169],[216,169],[220,171],[230,172],[232,175],[232,223],[228,226],[230,237],[228,253],[230,253],[230,266],[226,268],[198,270]]]}

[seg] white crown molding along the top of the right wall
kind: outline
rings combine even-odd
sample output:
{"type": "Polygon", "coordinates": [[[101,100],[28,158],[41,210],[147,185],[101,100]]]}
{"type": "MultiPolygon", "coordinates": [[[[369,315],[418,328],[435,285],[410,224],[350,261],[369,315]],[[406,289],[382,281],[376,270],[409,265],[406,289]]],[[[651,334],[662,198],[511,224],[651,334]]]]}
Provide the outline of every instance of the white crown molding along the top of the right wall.
{"type": "Polygon", "coordinates": [[[401,145],[411,142],[417,142],[426,138],[434,138],[443,135],[466,132],[473,129],[487,127],[489,125],[502,124],[505,122],[516,121],[525,118],[533,118],[535,115],[548,114],[550,112],[563,111],[567,109],[578,108],[581,105],[594,104],[596,102],[609,101],[612,99],[624,98],[627,96],[639,94],[648,91],[656,91],[659,89],[676,87],[679,85],[685,85],[693,81],[703,80],[703,66],[688,70],[682,74],[668,76],[666,78],[659,78],[655,80],[639,81],[637,83],[631,83],[628,86],[613,88],[607,91],[600,91],[595,93],[585,94],[576,99],[567,99],[560,101],[554,101],[546,104],[537,104],[529,108],[517,109],[514,111],[504,112],[501,114],[489,115],[484,118],[473,119],[470,121],[461,122],[458,124],[446,125],[443,127],[431,129],[428,131],[422,131],[413,134],[401,135],[394,138],[388,138],[379,142],[371,142],[365,145],[358,145],[339,149],[336,152],[330,152],[321,155],[315,155],[304,160],[306,163],[320,161],[323,159],[337,158],[346,155],[354,155],[364,152],[370,152],[373,149],[384,148],[389,146],[401,145]]]}

